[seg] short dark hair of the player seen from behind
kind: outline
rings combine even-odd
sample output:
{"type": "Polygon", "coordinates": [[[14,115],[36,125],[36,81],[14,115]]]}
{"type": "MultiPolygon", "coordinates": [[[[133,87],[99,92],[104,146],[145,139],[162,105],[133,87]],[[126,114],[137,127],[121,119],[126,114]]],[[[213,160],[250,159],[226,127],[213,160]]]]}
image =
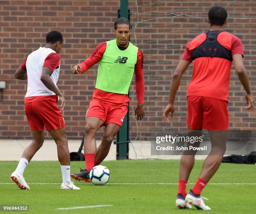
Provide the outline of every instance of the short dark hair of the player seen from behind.
{"type": "Polygon", "coordinates": [[[221,6],[214,6],[210,8],[208,12],[208,17],[210,19],[211,25],[224,25],[227,20],[228,13],[227,10],[221,6]]]}

